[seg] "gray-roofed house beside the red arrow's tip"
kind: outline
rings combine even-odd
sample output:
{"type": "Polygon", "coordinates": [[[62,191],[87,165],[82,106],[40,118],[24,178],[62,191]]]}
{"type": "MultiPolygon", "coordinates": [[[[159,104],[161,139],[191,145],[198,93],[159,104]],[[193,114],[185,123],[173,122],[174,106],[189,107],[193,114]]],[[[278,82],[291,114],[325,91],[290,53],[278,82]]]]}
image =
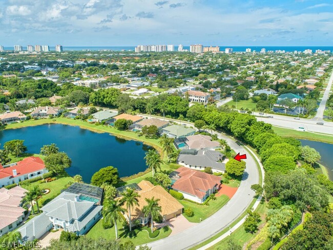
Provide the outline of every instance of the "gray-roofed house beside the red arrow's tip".
{"type": "Polygon", "coordinates": [[[212,168],[213,172],[225,172],[224,155],[213,150],[182,150],[179,153],[177,163],[186,168],[204,170],[212,168]]]}

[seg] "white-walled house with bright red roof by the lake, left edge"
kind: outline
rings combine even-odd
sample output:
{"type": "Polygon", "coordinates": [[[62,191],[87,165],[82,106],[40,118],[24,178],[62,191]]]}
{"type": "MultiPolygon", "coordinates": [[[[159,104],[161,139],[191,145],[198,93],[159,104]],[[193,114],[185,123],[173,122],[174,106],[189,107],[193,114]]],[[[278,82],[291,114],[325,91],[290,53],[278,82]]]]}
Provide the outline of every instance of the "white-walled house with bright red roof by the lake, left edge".
{"type": "Polygon", "coordinates": [[[7,165],[0,164],[0,186],[39,177],[48,172],[44,161],[35,156],[7,165]]]}

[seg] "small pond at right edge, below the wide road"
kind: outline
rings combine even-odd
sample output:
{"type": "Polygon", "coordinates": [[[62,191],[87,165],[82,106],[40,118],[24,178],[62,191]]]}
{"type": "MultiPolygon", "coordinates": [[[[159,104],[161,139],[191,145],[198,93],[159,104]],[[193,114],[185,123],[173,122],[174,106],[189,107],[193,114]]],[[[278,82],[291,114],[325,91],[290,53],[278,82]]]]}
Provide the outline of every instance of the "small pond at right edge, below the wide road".
{"type": "Polygon", "coordinates": [[[324,166],[326,166],[329,174],[330,180],[333,180],[333,163],[332,158],[330,158],[333,152],[333,144],[324,143],[320,141],[310,141],[310,140],[300,140],[302,142],[302,145],[308,145],[311,148],[316,149],[320,155],[321,160],[320,163],[324,166]]]}

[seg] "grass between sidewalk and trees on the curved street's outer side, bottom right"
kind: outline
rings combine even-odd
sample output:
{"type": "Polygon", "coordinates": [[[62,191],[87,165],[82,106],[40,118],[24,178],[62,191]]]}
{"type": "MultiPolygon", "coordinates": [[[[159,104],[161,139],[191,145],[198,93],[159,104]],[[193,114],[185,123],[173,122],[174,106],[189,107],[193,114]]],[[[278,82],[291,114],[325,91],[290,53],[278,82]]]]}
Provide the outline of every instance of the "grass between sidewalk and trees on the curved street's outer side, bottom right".
{"type": "MultiPolygon", "coordinates": [[[[256,211],[261,216],[263,216],[267,212],[266,203],[265,202],[260,202],[256,211]]],[[[259,226],[262,225],[264,222],[265,221],[262,218],[261,222],[259,223],[259,226]]],[[[232,239],[236,244],[238,244],[240,246],[243,246],[245,243],[248,243],[249,241],[253,240],[258,233],[259,233],[259,231],[255,234],[246,233],[245,230],[244,230],[244,226],[241,225],[230,236],[224,238],[219,243],[215,244],[214,246],[212,246],[208,249],[211,249],[211,250],[213,250],[213,249],[216,249],[216,250],[217,249],[219,249],[219,250],[227,249],[227,242],[230,239],[232,239]]]]}

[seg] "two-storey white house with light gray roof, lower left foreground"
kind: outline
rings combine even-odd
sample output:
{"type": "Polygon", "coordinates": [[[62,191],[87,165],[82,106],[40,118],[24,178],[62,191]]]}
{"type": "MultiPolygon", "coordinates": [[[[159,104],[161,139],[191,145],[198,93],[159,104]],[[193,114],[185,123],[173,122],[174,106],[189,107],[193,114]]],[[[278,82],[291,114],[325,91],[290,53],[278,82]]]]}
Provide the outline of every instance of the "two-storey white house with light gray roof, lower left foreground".
{"type": "Polygon", "coordinates": [[[18,229],[23,241],[38,239],[52,227],[84,235],[100,218],[102,206],[64,191],[40,210],[43,213],[18,229]]]}

